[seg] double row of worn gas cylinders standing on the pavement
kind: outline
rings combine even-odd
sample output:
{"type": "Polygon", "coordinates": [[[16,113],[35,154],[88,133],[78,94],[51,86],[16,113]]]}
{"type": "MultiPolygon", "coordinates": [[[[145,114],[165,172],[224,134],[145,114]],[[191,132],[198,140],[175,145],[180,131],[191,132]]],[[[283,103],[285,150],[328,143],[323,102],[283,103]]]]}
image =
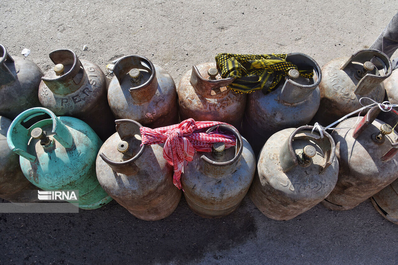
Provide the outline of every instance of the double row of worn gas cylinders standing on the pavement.
{"type": "MultiPolygon", "coordinates": [[[[222,129],[237,141],[235,148],[197,152],[184,166],[185,198],[201,216],[229,214],[248,191],[261,212],[277,220],[320,202],[351,209],[388,185],[397,191],[397,115],[383,112],[376,119],[380,108],[369,108],[365,117],[341,122],[332,135],[305,126],[336,121],[362,107],[361,97],[398,103],[398,72],[377,50],[337,58],[322,71],[308,55],[291,53],[286,59],[314,68],[314,78],[291,73],[267,95],[242,95],[226,88],[234,79],[221,78],[215,63],[193,66],[176,89],[166,70],[138,55],[117,60],[108,82],[96,64],[68,49],[50,53],[55,66],[43,76],[36,64],[0,47],[4,199],[29,201],[19,191],[35,186],[78,189],[80,208],[99,208],[113,198],[138,218],[164,218],[181,191],[172,183],[162,144],[140,146],[139,128],[188,118],[233,125],[222,129]]],[[[373,203],[397,222],[398,197],[383,192],[373,203]]]]}

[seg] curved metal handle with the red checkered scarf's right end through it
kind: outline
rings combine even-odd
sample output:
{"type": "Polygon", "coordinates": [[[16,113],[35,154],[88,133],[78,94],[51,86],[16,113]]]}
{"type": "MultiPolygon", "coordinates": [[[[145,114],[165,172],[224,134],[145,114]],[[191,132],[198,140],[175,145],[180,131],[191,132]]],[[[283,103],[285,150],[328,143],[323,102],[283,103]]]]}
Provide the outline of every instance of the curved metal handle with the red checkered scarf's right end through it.
{"type": "Polygon", "coordinates": [[[240,156],[242,155],[243,152],[243,141],[242,141],[242,136],[240,136],[240,133],[238,130],[236,130],[235,127],[229,125],[229,124],[219,124],[219,125],[214,125],[207,129],[206,133],[211,133],[215,129],[220,128],[224,129],[224,131],[229,131],[234,136],[236,137],[236,146],[235,146],[235,156],[229,161],[225,162],[216,162],[211,159],[209,159],[207,156],[203,155],[201,156],[201,159],[203,159],[206,163],[211,164],[212,166],[219,166],[219,167],[224,167],[224,166],[230,166],[232,164],[237,164],[239,161],[240,156]]]}

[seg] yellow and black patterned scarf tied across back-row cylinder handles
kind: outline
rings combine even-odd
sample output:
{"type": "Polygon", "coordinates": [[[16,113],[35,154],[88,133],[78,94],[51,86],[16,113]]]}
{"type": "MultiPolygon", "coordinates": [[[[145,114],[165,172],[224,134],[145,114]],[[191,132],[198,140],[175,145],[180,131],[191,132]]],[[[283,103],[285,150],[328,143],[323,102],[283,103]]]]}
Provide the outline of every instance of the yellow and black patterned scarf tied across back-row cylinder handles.
{"type": "Polygon", "coordinates": [[[239,93],[248,94],[260,90],[264,94],[271,92],[289,70],[296,69],[300,76],[312,78],[313,68],[298,69],[286,60],[287,54],[231,54],[219,53],[216,56],[217,68],[221,70],[221,77],[236,78],[227,88],[239,93]]]}

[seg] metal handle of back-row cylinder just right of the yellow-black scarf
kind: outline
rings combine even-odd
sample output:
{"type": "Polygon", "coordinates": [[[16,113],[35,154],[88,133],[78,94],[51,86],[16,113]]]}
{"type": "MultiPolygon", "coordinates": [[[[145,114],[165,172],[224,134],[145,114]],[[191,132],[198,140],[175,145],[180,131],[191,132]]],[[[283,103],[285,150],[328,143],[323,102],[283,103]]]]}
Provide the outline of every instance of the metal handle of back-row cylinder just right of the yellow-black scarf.
{"type": "Polygon", "coordinates": [[[383,82],[392,73],[392,63],[390,58],[385,53],[375,49],[363,49],[357,51],[341,66],[341,70],[344,70],[352,62],[359,62],[365,64],[375,60],[380,63],[383,67],[384,75],[380,75],[380,71],[376,68],[376,74],[367,73],[359,80],[355,87],[355,94],[369,94],[378,84],[383,82]]]}

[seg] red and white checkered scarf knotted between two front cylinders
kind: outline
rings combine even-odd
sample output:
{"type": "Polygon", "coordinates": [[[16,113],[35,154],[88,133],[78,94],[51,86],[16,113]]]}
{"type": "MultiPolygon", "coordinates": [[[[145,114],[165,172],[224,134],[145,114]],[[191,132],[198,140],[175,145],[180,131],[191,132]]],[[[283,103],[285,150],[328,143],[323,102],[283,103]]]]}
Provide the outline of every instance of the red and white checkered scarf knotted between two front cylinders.
{"type": "Polygon", "coordinates": [[[192,161],[195,150],[211,152],[215,142],[224,142],[225,148],[236,145],[236,137],[232,134],[222,134],[217,130],[206,133],[206,129],[219,124],[227,123],[187,119],[180,124],[156,129],[140,127],[142,144],[164,143],[163,157],[174,167],[173,183],[181,189],[184,163],[192,161]]]}

